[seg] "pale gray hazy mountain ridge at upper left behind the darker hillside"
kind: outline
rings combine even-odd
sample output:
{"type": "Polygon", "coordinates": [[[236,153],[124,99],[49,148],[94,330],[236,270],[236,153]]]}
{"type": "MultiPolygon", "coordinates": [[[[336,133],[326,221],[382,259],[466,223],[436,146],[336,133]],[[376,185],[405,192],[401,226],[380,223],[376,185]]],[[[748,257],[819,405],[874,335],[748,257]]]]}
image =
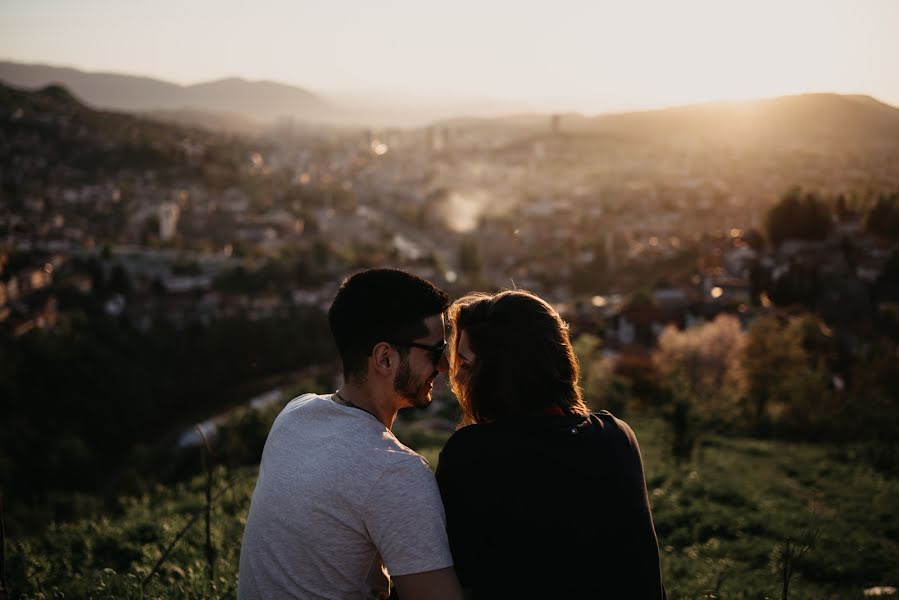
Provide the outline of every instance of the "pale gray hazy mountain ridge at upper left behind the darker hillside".
{"type": "Polygon", "coordinates": [[[91,106],[129,112],[186,109],[195,116],[198,111],[232,113],[262,122],[282,117],[301,121],[342,117],[338,107],[320,96],[270,81],[232,78],[181,86],[149,77],[13,62],[0,62],[0,81],[26,89],[61,84],[91,106]]]}

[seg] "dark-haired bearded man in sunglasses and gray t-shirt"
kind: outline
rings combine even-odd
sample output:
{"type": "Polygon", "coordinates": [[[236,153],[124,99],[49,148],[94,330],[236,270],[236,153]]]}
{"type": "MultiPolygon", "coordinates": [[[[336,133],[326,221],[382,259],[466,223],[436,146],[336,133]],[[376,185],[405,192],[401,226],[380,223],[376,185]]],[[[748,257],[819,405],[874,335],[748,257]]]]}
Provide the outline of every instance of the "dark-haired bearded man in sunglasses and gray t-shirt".
{"type": "MultiPolygon", "coordinates": [[[[238,598],[462,598],[443,505],[418,454],[390,431],[424,407],[444,355],[444,292],[394,269],[347,279],[328,320],[345,384],[278,415],[244,530],[238,598]]],[[[298,340],[302,343],[302,340],[298,340]]]]}

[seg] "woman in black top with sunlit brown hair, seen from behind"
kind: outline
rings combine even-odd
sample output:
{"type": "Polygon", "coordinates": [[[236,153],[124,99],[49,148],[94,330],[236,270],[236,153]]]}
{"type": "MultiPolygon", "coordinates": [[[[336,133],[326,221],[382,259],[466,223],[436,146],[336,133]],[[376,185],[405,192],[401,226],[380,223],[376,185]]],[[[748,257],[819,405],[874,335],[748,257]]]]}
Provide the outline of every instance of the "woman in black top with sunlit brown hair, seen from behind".
{"type": "Polygon", "coordinates": [[[640,449],[591,414],[565,323],[524,291],[450,308],[463,424],[437,482],[474,598],[663,598],[640,449]]]}

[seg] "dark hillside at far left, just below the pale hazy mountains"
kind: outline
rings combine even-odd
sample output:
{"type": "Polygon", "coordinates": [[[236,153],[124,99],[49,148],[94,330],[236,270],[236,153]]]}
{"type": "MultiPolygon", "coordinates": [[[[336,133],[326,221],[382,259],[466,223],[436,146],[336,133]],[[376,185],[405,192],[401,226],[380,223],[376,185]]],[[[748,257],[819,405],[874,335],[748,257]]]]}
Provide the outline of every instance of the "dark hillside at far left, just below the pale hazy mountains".
{"type": "Polygon", "coordinates": [[[24,91],[0,84],[0,131],[0,164],[18,165],[5,179],[34,189],[146,170],[168,180],[212,177],[227,184],[250,153],[243,138],[97,110],[60,85],[24,91]],[[202,161],[192,160],[196,151],[202,161]]]}

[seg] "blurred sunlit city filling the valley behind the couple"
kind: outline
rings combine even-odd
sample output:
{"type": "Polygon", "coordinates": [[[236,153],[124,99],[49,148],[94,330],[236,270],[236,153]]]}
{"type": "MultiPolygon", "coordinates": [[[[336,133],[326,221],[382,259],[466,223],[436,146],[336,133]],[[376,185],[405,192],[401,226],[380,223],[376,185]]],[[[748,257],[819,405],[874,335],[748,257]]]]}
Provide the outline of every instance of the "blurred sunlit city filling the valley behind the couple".
{"type": "Polygon", "coordinates": [[[554,115],[237,137],[96,112],[59,87],[2,93],[0,324],[15,335],[54,327],[73,295],[143,330],[325,307],[347,273],[393,265],[457,293],[529,289],[604,320],[610,348],[651,346],[668,322],[750,319],[788,280],[814,284],[827,319],[858,319],[896,247],[865,223],[899,189],[899,144],[838,125],[740,138],[662,122],[676,115],[649,133],[554,115]],[[820,198],[830,226],[771,243],[788,193],[820,198]]]}

